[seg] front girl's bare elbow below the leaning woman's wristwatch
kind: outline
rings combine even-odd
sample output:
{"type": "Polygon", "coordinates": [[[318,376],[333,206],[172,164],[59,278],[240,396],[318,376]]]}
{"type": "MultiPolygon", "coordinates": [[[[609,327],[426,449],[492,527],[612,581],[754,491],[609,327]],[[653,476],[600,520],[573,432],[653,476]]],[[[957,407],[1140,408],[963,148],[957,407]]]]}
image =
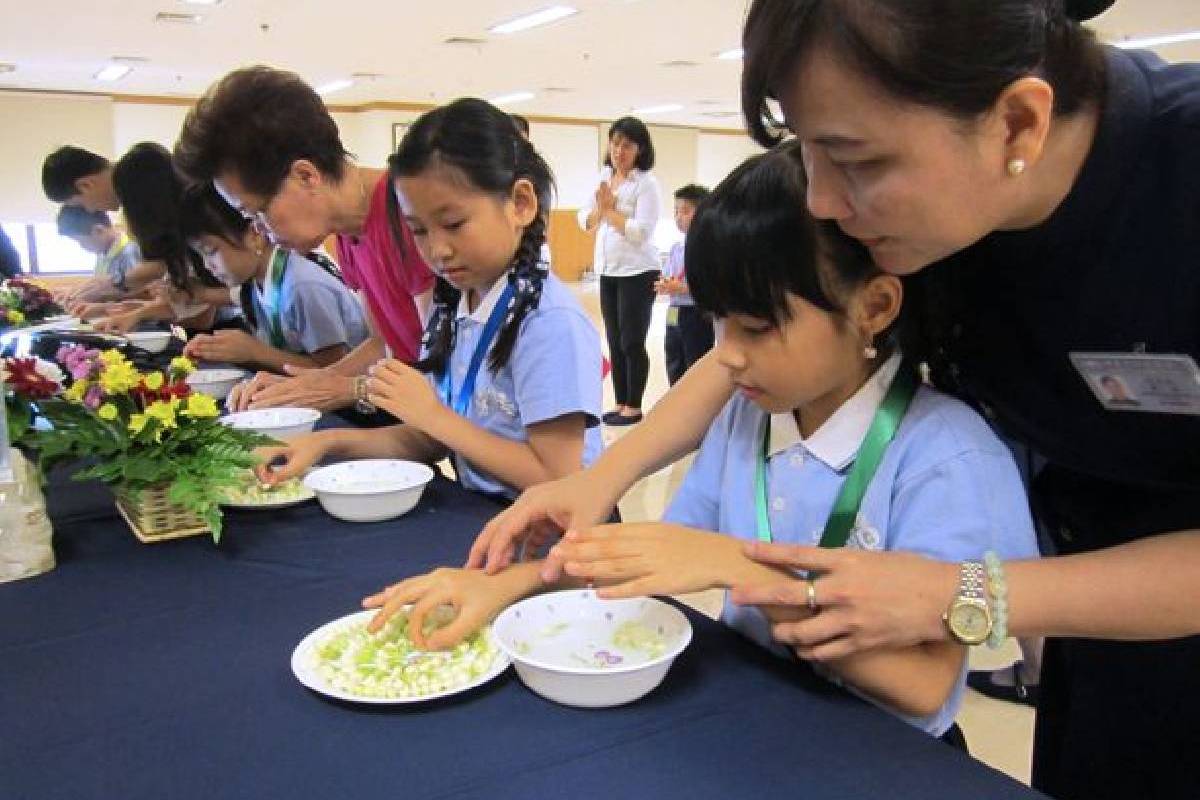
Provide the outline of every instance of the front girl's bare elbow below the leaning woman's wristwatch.
{"type": "Polygon", "coordinates": [[[925,643],[901,650],[866,650],[826,666],[842,681],[901,714],[929,716],[950,696],[966,650],[925,643]]]}

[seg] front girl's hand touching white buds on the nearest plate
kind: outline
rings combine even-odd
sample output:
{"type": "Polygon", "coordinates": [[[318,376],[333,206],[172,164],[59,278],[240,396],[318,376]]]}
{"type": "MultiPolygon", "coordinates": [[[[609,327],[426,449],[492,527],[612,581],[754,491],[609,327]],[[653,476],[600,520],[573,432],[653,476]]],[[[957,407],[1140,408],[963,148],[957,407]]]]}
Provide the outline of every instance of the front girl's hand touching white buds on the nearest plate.
{"type": "Polygon", "coordinates": [[[514,600],[503,576],[488,576],[480,570],[440,567],[364,597],[362,607],[379,609],[367,625],[367,630],[376,633],[398,610],[412,604],[408,614],[409,638],[422,650],[445,650],[490,622],[514,600]],[[426,638],[422,630],[425,618],[440,606],[454,608],[455,618],[426,638]]]}

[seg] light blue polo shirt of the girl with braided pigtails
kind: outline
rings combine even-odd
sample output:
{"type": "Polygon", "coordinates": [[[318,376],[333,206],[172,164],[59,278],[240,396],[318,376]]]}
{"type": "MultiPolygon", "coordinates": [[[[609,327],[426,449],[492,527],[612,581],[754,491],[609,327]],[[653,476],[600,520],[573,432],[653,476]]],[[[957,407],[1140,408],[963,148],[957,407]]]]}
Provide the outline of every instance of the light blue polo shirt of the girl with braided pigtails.
{"type": "MultiPolygon", "coordinates": [[[[475,344],[506,285],[508,276],[504,276],[484,295],[474,312],[468,312],[463,294],[455,348],[450,354],[455,392],[463,384],[475,344]]],[[[505,439],[528,441],[526,428],[530,425],[566,414],[586,414],[588,427],[583,434],[581,468],[587,467],[604,447],[599,427],[600,369],[600,335],[570,290],[551,273],[542,283],[538,308],[521,320],[509,362],[494,375],[486,359],[480,366],[467,419],[505,439]]],[[[440,389],[440,378],[431,377],[431,381],[434,389],[440,389]]],[[[457,453],[452,458],[466,488],[509,499],[520,494],[518,489],[475,469],[457,453]]]]}

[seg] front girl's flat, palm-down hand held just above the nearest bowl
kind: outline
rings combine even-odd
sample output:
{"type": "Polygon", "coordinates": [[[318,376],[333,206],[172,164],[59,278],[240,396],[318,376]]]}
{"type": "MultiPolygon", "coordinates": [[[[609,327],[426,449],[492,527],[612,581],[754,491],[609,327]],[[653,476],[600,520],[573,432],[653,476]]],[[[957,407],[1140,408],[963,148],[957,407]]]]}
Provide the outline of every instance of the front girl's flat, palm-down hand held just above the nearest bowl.
{"type": "Polygon", "coordinates": [[[674,595],[728,585],[742,555],[740,542],[667,523],[599,525],[569,531],[550,551],[575,578],[607,584],[601,597],[674,595]]]}

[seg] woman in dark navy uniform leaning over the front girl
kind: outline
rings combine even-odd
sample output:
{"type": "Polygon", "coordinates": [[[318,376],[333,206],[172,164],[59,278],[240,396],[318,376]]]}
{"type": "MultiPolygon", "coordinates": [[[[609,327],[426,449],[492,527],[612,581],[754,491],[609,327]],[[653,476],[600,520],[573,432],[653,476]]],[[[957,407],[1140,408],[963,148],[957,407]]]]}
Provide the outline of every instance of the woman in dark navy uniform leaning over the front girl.
{"type": "MultiPolygon", "coordinates": [[[[1032,500],[1063,557],[1004,565],[1009,632],[1061,637],[1043,668],[1034,784],[1196,796],[1200,66],[1098,44],[1079,22],[1111,2],[755,0],[743,104],[769,144],[779,100],[815,215],[882,267],[917,273],[935,383],[1048,463],[1032,500]]],[[[493,521],[472,563],[497,569],[530,533],[600,522],[695,445],[730,391],[701,361],[592,469],[493,521]]],[[[754,551],[820,576],[734,593],[820,606],[775,630],[802,657],[965,640],[949,624],[958,565],[754,551]]]]}

